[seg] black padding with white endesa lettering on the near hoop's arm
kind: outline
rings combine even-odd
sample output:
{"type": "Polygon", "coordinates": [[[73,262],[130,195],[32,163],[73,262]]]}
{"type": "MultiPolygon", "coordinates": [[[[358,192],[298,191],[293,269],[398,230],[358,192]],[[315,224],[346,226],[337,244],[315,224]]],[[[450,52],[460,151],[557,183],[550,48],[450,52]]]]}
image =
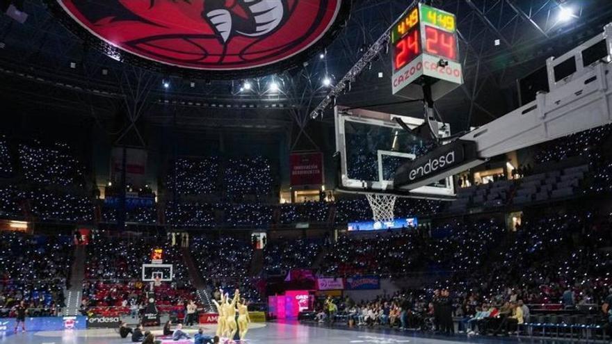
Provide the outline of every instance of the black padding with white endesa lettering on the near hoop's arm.
{"type": "Polygon", "coordinates": [[[394,186],[417,183],[475,158],[476,142],[453,141],[399,167],[394,177],[394,186]]]}

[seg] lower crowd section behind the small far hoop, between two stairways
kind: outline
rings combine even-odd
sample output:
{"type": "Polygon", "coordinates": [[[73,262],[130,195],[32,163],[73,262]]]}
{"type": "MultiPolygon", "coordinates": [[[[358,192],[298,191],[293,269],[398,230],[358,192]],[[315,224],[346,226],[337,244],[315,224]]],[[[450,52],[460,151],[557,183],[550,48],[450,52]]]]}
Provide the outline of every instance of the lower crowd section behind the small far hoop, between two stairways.
{"type": "Polygon", "coordinates": [[[150,238],[98,237],[88,245],[83,313],[140,313],[151,290],[162,313],[182,313],[184,302],[197,300],[179,247],[150,238]],[[159,286],[142,281],[142,265],[150,263],[154,248],[163,249],[163,263],[172,264],[174,274],[172,281],[159,286]]]}

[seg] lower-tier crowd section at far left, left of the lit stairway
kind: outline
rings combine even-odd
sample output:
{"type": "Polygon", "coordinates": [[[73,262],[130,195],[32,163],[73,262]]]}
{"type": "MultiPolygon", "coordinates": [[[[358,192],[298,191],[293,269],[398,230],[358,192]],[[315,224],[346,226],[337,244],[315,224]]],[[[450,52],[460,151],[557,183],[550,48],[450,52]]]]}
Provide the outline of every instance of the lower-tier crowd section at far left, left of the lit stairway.
{"type": "Polygon", "coordinates": [[[71,264],[69,236],[0,232],[0,317],[15,316],[22,301],[29,316],[55,316],[71,264]]]}

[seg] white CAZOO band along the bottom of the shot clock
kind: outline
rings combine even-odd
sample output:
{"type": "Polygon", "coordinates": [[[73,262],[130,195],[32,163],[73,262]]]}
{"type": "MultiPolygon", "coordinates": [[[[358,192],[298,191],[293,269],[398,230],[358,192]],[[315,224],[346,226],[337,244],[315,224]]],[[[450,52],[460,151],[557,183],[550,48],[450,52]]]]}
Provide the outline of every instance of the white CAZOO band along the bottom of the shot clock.
{"type": "Polygon", "coordinates": [[[448,65],[442,67],[438,65],[439,61],[440,58],[437,56],[423,54],[395,72],[392,76],[393,94],[396,94],[421,76],[430,76],[435,79],[450,81],[451,83],[463,83],[463,72],[460,63],[444,60],[448,65]]]}

